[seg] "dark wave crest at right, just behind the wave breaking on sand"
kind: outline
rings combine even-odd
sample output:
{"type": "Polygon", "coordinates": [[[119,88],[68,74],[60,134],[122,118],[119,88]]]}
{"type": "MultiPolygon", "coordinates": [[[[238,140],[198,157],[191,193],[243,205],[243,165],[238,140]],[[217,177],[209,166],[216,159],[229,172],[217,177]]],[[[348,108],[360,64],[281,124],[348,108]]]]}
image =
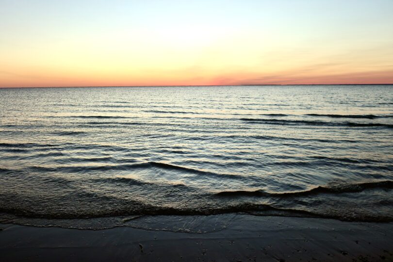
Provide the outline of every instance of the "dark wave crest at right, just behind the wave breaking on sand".
{"type": "Polygon", "coordinates": [[[222,191],[215,193],[216,196],[222,197],[236,197],[236,196],[250,196],[250,197],[298,197],[308,196],[321,193],[341,194],[341,193],[357,193],[371,188],[385,188],[393,189],[393,180],[383,180],[375,182],[363,182],[358,184],[330,184],[326,186],[317,186],[305,191],[293,192],[266,192],[261,189],[256,191],[222,191]]]}

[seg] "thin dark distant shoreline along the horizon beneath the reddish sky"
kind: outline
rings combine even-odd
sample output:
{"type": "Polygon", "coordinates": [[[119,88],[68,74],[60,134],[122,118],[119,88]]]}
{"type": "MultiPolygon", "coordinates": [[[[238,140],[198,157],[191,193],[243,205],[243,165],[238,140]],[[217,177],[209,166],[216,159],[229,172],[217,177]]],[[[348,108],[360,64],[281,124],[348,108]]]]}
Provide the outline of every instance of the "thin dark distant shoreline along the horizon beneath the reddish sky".
{"type": "Polygon", "coordinates": [[[1,87],[1,88],[91,88],[91,87],[209,87],[209,86],[313,86],[313,85],[393,85],[393,83],[354,83],[354,84],[229,84],[229,85],[111,85],[111,86],[16,86],[16,87],[1,87]]]}

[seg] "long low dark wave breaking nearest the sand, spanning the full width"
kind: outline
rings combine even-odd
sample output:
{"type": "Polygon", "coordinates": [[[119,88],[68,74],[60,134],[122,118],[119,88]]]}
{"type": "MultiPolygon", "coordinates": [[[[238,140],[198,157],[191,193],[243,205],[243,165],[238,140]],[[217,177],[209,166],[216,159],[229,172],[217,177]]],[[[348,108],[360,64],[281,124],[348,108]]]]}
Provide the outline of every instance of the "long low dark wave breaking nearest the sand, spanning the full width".
{"type": "MultiPolygon", "coordinates": [[[[79,196],[87,198],[97,198],[97,195],[90,192],[82,192],[79,196]]],[[[118,202],[121,199],[115,197],[100,196],[101,201],[113,201],[118,202]]],[[[5,220],[15,220],[16,223],[32,225],[34,221],[31,219],[44,218],[44,219],[72,219],[69,221],[72,223],[72,227],[78,227],[78,220],[76,219],[92,219],[92,218],[115,218],[124,216],[150,216],[150,215],[217,215],[226,213],[247,213],[257,216],[286,216],[286,217],[314,217],[314,218],[333,218],[342,221],[361,221],[361,222],[391,222],[392,217],[390,216],[373,216],[370,214],[354,214],[351,216],[348,213],[319,213],[302,209],[295,208],[279,208],[269,204],[253,204],[253,203],[238,203],[230,204],[227,206],[212,208],[209,206],[201,206],[199,208],[180,208],[180,207],[163,207],[148,205],[141,201],[128,201],[127,203],[121,202],[120,205],[115,205],[115,209],[96,209],[96,210],[79,210],[68,209],[60,211],[56,209],[51,212],[50,210],[32,210],[25,209],[23,206],[0,206],[0,221],[2,220],[2,214],[13,214],[16,215],[10,220],[9,216],[5,216],[5,220]]],[[[124,220],[124,218],[123,218],[124,220]]],[[[94,223],[90,220],[90,223],[94,223]]],[[[51,220],[50,224],[56,224],[56,220],[51,220]]],[[[109,223],[112,225],[112,223],[109,223]]],[[[89,226],[91,226],[89,224],[89,226]]],[[[113,227],[113,225],[112,225],[113,227]]]]}

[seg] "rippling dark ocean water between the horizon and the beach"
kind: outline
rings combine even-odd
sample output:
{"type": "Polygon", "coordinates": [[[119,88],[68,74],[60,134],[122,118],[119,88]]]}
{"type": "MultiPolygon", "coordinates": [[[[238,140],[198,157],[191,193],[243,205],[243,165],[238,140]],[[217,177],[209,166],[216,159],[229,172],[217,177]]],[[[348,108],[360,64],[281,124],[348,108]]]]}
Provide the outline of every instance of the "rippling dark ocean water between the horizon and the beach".
{"type": "Polygon", "coordinates": [[[393,85],[0,89],[0,222],[393,221],[392,189],[393,85]]]}

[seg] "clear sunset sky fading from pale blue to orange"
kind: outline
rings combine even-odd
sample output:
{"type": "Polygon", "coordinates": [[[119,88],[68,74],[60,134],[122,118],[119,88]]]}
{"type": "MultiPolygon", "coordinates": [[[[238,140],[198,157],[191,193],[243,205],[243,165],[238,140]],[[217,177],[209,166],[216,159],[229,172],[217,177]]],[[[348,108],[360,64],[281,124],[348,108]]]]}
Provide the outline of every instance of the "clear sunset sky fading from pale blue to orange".
{"type": "Polygon", "coordinates": [[[393,83],[393,0],[0,0],[0,87],[393,83]]]}

